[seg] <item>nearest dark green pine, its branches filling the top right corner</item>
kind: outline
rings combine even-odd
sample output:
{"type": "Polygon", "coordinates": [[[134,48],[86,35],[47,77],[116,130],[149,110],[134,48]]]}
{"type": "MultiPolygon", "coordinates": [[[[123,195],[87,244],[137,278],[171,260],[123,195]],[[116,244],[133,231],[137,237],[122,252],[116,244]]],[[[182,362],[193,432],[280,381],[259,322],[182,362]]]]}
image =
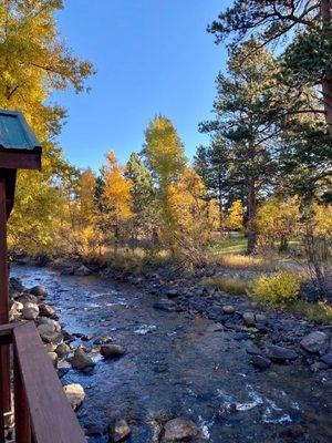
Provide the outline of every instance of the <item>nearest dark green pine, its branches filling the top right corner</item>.
{"type": "Polygon", "coordinates": [[[322,97],[319,109],[305,106],[291,113],[323,113],[325,127],[332,134],[331,0],[236,0],[208,30],[216,35],[217,43],[234,37],[232,43],[237,45],[252,35],[259,48],[284,48],[286,43],[284,81],[289,96],[297,99],[300,91],[320,83],[322,97]]]}

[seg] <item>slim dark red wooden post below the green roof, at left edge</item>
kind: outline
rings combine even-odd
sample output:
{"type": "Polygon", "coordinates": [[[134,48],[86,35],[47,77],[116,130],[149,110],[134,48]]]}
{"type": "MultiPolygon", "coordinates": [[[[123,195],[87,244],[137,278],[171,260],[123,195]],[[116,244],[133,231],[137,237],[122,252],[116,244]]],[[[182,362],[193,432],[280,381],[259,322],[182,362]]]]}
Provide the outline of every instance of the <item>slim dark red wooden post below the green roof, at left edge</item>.
{"type": "MultiPolygon", "coordinates": [[[[0,169],[0,324],[9,322],[9,292],[7,264],[7,206],[6,206],[6,176],[0,169]]],[[[10,411],[10,369],[9,347],[0,349],[1,370],[1,406],[3,412],[10,411]]]]}

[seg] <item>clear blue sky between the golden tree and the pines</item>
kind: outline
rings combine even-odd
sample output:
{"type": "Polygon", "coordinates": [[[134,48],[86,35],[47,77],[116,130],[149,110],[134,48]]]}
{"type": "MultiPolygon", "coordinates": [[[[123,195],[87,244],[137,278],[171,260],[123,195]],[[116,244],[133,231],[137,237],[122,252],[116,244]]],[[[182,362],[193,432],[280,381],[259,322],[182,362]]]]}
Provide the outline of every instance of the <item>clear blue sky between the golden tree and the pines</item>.
{"type": "Polygon", "coordinates": [[[144,143],[157,113],[169,117],[189,157],[207,137],[215,78],[227,52],[206,27],[230,1],[65,0],[56,16],[68,45],[94,63],[89,94],[58,92],[69,119],[59,137],[65,157],[97,171],[106,151],[124,163],[144,143]]]}

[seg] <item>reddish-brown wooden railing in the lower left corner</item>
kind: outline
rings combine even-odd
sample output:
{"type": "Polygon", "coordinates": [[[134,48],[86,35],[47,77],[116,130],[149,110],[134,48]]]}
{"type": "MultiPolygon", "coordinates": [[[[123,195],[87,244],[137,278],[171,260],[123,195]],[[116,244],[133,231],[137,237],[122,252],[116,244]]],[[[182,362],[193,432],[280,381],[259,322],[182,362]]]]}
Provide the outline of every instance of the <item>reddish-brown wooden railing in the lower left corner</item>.
{"type": "MultiPolygon", "coordinates": [[[[86,443],[33,322],[0,326],[0,346],[12,348],[15,443],[86,443]]],[[[2,374],[0,373],[0,387],[2,374]]],[[[1,389],[1,388],[0,388],[1,389]]],[[[0,443],[6,414],[0,392],[0,443]]]]}

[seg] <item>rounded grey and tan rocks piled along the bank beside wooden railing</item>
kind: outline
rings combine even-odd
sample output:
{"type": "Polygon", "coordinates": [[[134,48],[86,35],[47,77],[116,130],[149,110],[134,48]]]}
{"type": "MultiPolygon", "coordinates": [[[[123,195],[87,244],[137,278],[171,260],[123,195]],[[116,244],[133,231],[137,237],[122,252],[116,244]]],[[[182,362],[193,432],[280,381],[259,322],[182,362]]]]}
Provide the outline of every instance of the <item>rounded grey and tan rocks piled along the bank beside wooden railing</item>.
{"type": "MultiPolygon", "coordinates": [[[[82,276],[86,275],[83,272],[82,276]]],[[[100,337],[94,340],[94,348],[87,349],[83,342],[92,337],[84,334],[70,336],[62,329],[55,309],[45,302],[48,292],[45,288],[35,286],[31,289],[24,288],[21,280],[11,278],[9,285],[10,293],[10,321],[29,320],[34,321],[37,330],[44,343],[45,351],[50,357],[54,369],[61,378],[68,367],[90,371],[95,367],[93,356],[98,352],[105,359],[120,358],[125,353],[122,346],[112,343],[111,337],[100,337]],[[81,339],[81,344],[73,349],[72,342],[81,339]],[[92,352],[93,351],[93,352],[92,352]]],[[[72,383],[63,387],[74,411],[77,411],[85,399],[85,392],[81,384],[72,383]]],[[[123,419],[116,420],[110,425],[110,442],[122,442],[131,434],[128,424],[123,419]]],[[[103,434],[104,430],[97,429],[94,424],[85,429],[86,435],[103,434]]]]}

